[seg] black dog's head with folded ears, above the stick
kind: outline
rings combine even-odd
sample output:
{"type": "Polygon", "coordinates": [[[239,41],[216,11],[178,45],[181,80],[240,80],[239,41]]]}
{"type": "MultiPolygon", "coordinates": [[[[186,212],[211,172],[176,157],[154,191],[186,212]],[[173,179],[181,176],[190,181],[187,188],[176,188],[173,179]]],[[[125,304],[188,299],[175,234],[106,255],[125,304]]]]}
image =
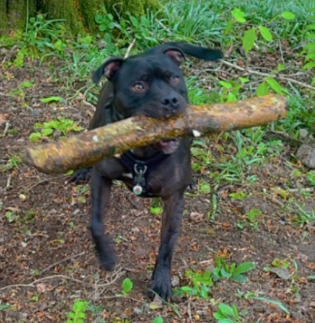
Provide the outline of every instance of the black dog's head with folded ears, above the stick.
{"type": "Polygon", "coordinates": [[[140,54],[108,59],[93,75],[104,75],[113,84],[113,105],[122,119],[142,114],[152,118],[182,113],[188,98],[181,49],[170,47],[163,53],[140,54]]]}

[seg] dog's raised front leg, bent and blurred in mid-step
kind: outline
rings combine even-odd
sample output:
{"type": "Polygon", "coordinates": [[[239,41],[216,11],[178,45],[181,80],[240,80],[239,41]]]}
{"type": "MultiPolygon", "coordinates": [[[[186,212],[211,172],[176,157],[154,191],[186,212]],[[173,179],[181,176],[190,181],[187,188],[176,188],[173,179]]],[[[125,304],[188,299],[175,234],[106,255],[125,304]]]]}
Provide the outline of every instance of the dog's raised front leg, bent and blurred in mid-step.
{"type": "Polygon", "coordinates": [[[116,255],[113,242],[104,234],[103,214],[110,199],[111,179],[100,174],[95,168],[92,170],[92,221],[91,232],[96,249],[100,257],[101,266],[105,270],[112,270],[115,266],[116,255]]]}

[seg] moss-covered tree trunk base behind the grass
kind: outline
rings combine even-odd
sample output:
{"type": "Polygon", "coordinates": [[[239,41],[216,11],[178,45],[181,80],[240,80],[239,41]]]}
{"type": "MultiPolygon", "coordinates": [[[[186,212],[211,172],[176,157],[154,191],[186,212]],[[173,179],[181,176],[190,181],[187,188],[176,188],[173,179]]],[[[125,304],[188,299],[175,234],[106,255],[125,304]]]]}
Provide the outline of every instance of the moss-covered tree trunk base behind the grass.
{"type": "Polygon", "coordinates": [[[116,17],[127,12],[140,16],[147,8],[158,8],[159,4],[157,0],[0,0],[0,36],[24,29],[26,21],[37,13],[45,14],[47,19],[65,19],[74,35],[84,30],[95,33],[94,16],[104,7],[116,17]]]}

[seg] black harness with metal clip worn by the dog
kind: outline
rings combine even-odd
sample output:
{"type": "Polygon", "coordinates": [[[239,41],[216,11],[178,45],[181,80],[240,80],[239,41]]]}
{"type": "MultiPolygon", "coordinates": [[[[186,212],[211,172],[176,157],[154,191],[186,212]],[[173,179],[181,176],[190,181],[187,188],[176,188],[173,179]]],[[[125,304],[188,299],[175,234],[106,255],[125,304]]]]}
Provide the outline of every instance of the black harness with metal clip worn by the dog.
{"type": "MultiPolygon", "coordinates": [[[[112,123],[112,113],[117,120],[122,120],[123,117],[113,107],[113,94],[109,96],[109,100],[104,105],[106,124],[112,123]]],[[[157,151],[154,155],[146,159],[138,159],[131,151],[126,151],[121,155],[121,163],[132,174],[133,187],[132,192],[142,197],[152,197],[148,182],[151,173],[156,169],[162,161],[168,158],[170,154],[164,154],[162,151],[157,151]]]]}

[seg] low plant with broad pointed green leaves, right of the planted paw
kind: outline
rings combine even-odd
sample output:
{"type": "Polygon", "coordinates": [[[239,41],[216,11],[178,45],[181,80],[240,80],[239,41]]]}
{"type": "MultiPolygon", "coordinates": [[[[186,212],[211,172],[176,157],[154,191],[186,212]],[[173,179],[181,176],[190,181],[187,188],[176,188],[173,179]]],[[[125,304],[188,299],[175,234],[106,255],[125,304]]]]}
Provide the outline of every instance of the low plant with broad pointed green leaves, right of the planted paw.
{"type": "Polygon", "coordinates": [[[243,262],[238,266],[236,263],[228,265],[226,261],[220,257],[215,258],[215,268],[213,270],[213,279],[218,280],[222,278],[232,279],[237,283],[244,283],[248,281],[248,277],[244,274],[256,268],[253,262],[243,262]]]}

